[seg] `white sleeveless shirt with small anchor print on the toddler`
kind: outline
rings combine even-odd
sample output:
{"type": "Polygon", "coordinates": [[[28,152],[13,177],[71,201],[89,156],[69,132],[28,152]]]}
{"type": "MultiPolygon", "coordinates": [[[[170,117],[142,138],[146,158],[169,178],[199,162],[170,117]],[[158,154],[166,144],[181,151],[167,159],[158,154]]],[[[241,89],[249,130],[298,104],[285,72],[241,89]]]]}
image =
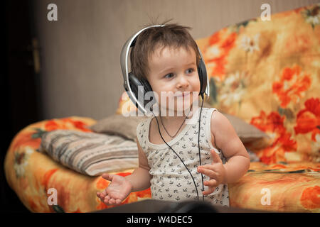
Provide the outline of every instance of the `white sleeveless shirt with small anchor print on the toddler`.
{"type": "MultiPolygon", "coordinates": [[[[182,131],[176,135],[168,143],[176,154],[166,145],[154,144],[149,141],[150,122],[153,117],[146,118],[137,126],[137,139],[139,145],[144,150],[148,164],[150,167],[149,174],[152,176],[150,183],[151,196],[153,199],[166,201],[183,201],[188,199],[199,199],[202,201],[202,179],[201,173],[197,172],[197,167],[200,165],[198,155],[198,129],[200,109],[196,112],[196,121],[186,123],[182,131]],[[188,170],[191,172],[193,179],[183,165],[184,162],[188,170]]],[[[213,148],[211,143],[211,115],[215,108],[203,108],[201,111],[201,128],[200,128],[200,150],[201,150],[201,165],[212,164],[213,157],[210,150],[214,149],[220,156],[223,164],[226,162],[221,150],[213,148]]],[[[210,177],[203,175],[203,182],[209,180],[210,177]]],[[[204,189],[208,189],[204,186],[204,189]]],[[[214,205],[229,206],[229,191],[228,184],[219,184],[215,191],[205,195],[204,200],[214,205]]]]}

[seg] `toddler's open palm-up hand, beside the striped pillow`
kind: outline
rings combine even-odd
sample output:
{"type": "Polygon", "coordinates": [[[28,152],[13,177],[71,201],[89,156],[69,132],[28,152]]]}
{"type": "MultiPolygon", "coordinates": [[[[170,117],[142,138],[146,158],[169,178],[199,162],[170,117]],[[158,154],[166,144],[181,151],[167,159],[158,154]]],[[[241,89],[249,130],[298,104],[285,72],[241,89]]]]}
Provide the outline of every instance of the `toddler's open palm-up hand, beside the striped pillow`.
{"type": "Polygon", "coordinates": [[[132,184],[119,175],[102,175],[104,179],[111,181],[109,186],[103,192],[97,192],[97,196],[106,205],[120,204],[132,190],[132,184]]]}

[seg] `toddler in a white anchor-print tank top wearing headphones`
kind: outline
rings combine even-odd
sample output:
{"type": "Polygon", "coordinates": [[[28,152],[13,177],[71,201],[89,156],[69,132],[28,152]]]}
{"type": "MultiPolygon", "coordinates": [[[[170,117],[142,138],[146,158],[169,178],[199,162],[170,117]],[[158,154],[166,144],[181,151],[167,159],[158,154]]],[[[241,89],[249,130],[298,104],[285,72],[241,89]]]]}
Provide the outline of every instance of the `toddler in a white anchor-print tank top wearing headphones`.
{"type": "Polygon", "coordinates": [[[196,199],[229,206],[228,184],[237,182],[250,167],[244,145],[217,109],[176,114],[180,106],[195,109],[201,90],[197,71],[200,54],[187,29],[174,23],[148,28],[132,48],[132,72],[146,79],[158,94],[161,114],[137,126],[139,167],[132,175],[102,175],[110,184],[97,196],[107,205],[120,204],[130,192],[150,187],[153,199],[196,199]],[[162,102],[161,92],[174,95],[162,102]],[[174,101],[173,107],[161,106],[169,101],[174,101]],[[170,108],[175,116],[167,115],[170,108]],[[198,120],[186,123],[191,117],[198,120]]]}

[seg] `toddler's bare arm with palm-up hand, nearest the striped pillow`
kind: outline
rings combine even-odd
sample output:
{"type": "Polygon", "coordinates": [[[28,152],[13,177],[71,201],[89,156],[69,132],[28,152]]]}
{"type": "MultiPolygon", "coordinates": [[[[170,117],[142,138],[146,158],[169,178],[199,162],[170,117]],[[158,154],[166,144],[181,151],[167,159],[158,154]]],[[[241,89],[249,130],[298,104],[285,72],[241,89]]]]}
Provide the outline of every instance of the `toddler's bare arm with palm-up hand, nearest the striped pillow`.
{"type": "Polygon", "coordinates": [[[103,174],[102,177],[111,181],[103,192],[97,192],[97,196],[107,205],[120,204],[130,192],[142,191],[150,187],[150,167],[144,151],[137,140],[139,153],[139,167],[132,175],[121,177],[119,175],[103,174]]]}

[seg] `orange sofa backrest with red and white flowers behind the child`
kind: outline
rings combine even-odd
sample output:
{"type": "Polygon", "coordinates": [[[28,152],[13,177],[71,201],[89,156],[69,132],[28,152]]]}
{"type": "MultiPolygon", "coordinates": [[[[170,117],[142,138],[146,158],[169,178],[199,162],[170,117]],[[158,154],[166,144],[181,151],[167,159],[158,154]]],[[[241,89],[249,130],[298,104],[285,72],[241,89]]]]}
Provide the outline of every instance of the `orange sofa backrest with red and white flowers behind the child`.
{"type": "Polygon", "coordinates": [[[210,78],[208,103],[270,135],[270,146],[255,150],[265,164],[320,162],[319,18],[316,4],[197,40],[210,78]]]}

